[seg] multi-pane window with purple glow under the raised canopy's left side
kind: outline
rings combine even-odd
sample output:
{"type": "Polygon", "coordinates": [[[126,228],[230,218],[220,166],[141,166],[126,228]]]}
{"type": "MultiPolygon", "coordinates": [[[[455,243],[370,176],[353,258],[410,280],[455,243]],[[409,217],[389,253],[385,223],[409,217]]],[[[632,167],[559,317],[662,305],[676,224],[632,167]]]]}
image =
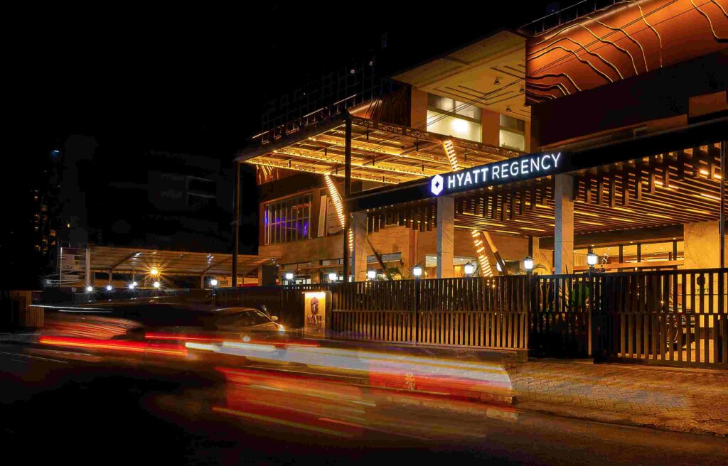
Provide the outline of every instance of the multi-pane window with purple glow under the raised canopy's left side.
{"type": "Polygon", "coordinates": [[[311,238],[312,199],[313,195],[309,193],[266,204],[265,244],[288,243],[311,238]]]}

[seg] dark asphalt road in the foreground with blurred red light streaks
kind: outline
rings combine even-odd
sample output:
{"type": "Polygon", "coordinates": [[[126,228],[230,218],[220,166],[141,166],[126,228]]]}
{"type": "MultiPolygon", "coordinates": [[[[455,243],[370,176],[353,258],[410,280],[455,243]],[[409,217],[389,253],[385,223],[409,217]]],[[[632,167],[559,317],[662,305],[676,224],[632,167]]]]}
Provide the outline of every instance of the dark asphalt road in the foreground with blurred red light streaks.
{"type": "Polygon", "coordinates": [[[28,464],[728,464],[726,438],[266,370],[200,373],[9,344],[0,387],[0,454],[28,464]]]}

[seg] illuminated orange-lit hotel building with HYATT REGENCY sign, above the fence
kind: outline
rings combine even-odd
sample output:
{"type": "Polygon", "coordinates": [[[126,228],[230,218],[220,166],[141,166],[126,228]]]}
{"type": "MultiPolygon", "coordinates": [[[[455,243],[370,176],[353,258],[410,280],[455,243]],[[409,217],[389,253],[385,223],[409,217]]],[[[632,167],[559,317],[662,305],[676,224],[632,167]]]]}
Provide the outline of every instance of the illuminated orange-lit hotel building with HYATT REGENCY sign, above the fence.
{"type": "Polygon", "coordinates": [[[259,254],[280,283],[579,273],[588,252],[604,273],[724,266],[727,10],[626,1],[499,31],[266,128],[237,155],[259,254]]]}

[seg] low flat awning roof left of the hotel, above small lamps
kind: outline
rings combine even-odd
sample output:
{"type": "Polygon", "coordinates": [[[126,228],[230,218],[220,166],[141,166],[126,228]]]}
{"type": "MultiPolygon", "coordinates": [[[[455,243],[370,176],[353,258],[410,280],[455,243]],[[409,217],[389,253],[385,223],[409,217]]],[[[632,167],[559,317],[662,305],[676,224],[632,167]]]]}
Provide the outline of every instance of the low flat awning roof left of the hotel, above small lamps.
{"type": "MultiPolygon", "coordinates": [[[[239,273],[241,276],[257,276],[258,267],[272,260],[273,257],[239,255],[239,273]]],[[[90,246],[92,272],[144,274],[152,268],[163,275],[226,276],[231,273],[232,254],[90,246]]]]}

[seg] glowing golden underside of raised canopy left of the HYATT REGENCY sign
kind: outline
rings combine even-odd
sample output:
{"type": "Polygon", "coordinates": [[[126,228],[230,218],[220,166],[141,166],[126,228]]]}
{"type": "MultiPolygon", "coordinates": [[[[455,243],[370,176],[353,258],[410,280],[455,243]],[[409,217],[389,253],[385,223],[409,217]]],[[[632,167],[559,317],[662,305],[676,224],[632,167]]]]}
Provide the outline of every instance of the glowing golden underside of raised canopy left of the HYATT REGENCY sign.
{"type": "MultiPolygon", "coordinates": [[[[344,133],[342,123],[318,134],[309,134],[285,147],[274,148],[247,162],[344,177],[344,133]]],[[[354,117],[352,178],[397,184],[450,172],[451,165],[442,145],[447,139],[453,141],[460,166],[464,168],[522,154],[517,150],[354,117]]]]}

